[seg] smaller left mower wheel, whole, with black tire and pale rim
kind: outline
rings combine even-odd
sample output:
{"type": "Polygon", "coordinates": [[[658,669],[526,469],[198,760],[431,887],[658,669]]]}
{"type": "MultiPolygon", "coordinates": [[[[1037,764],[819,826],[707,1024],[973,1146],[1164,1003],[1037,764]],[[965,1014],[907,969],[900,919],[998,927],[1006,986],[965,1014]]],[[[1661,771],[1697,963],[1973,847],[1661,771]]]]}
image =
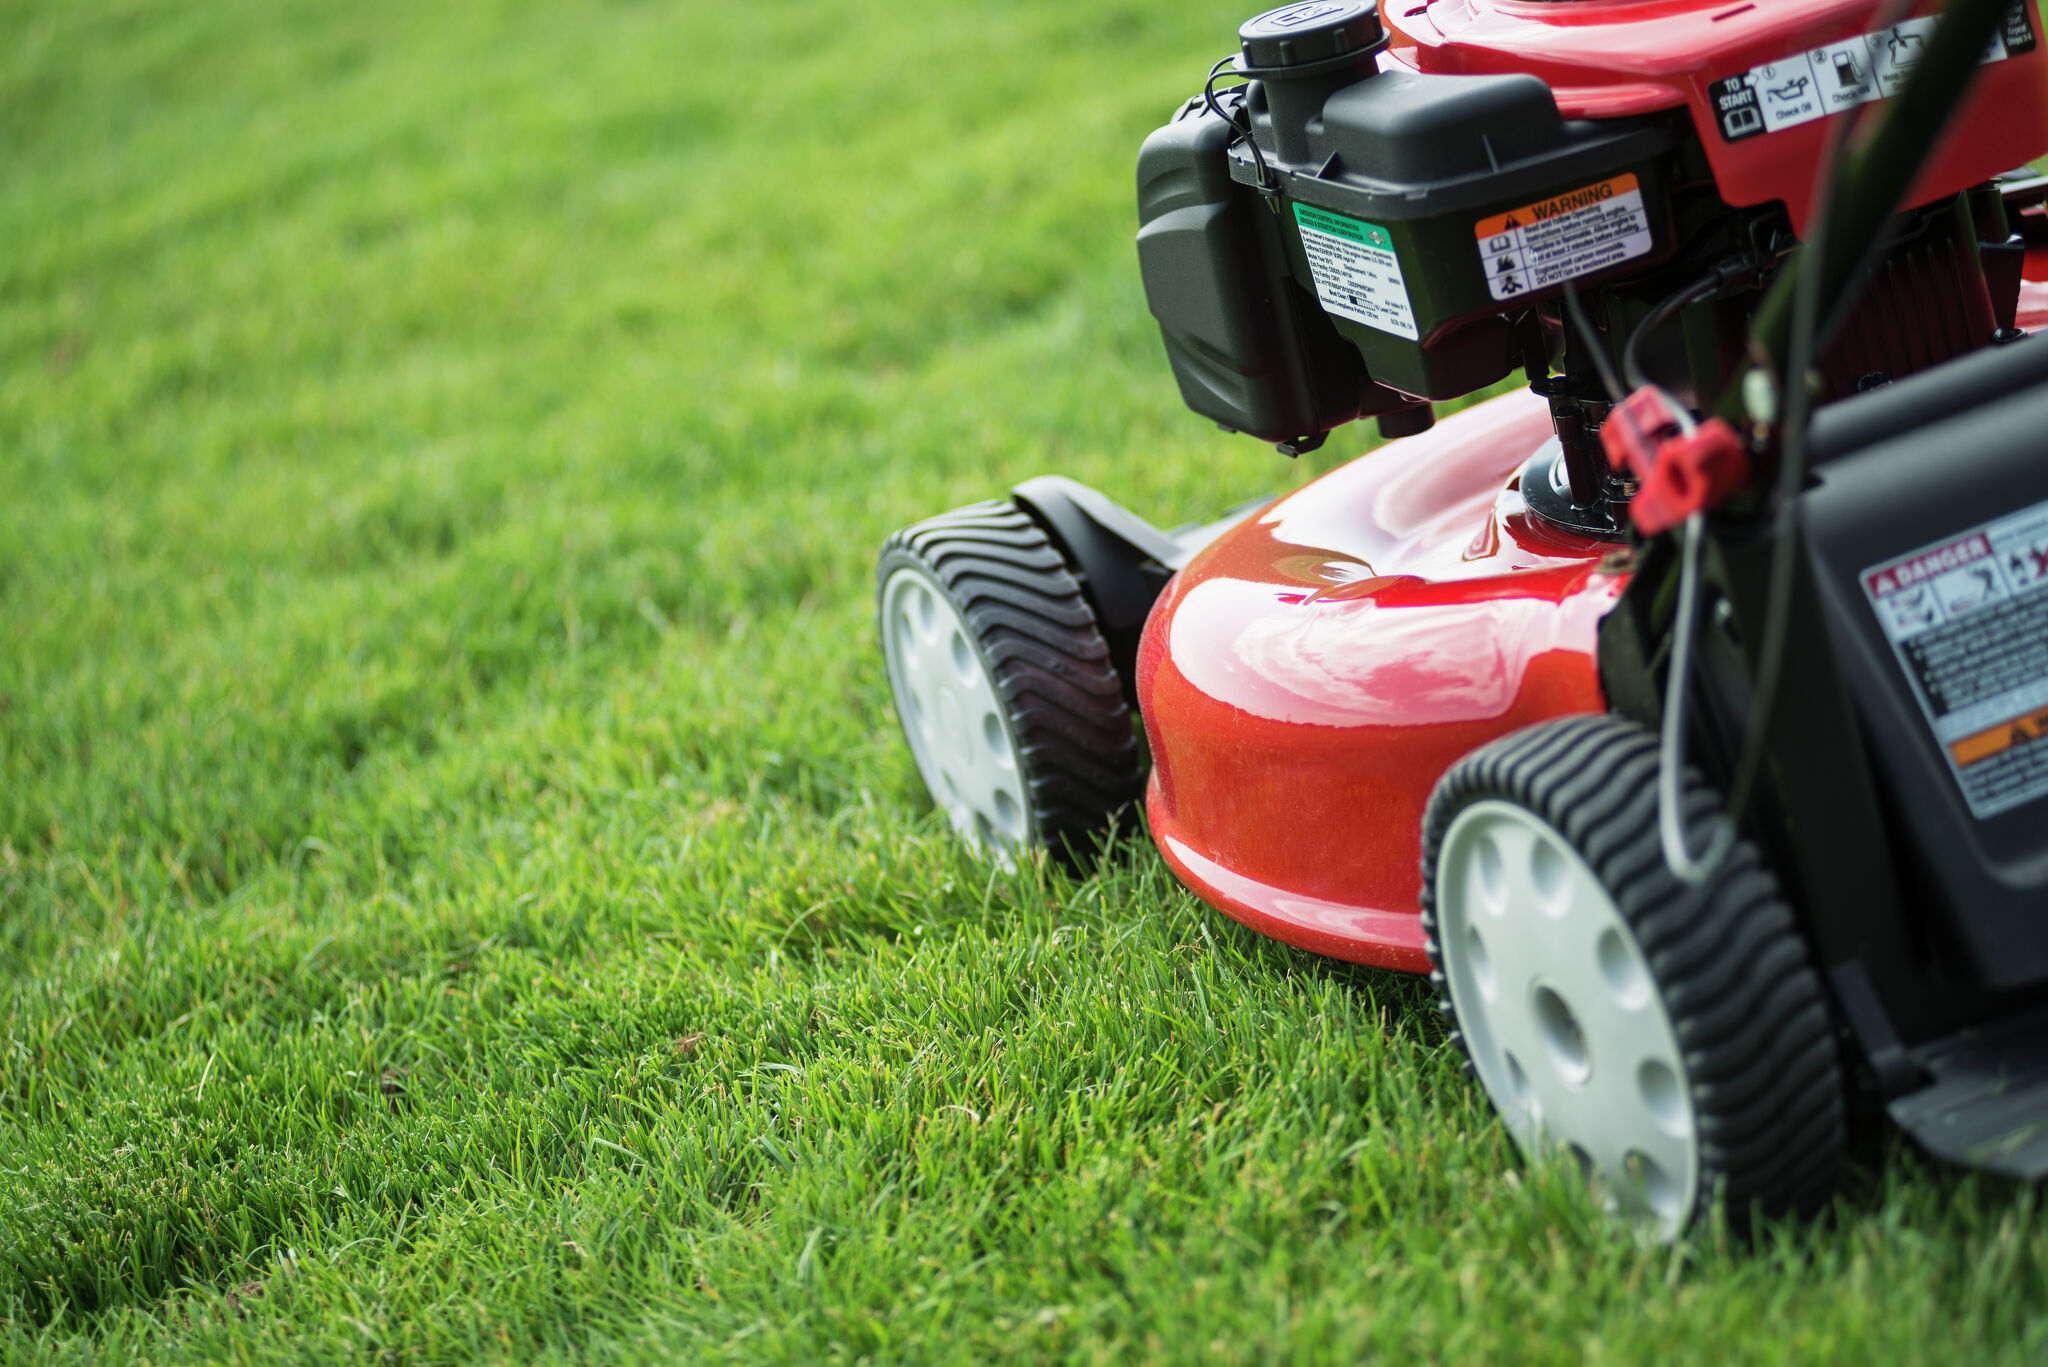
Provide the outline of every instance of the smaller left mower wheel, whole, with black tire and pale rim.
{"type": "Polygon", "coordinates": [[[1094,611],[1008,502],[907,527],[874,570],[897,715],[932,801],[977,846],[1085,851],[1139,797],[1130,709],[1094,611]]]}

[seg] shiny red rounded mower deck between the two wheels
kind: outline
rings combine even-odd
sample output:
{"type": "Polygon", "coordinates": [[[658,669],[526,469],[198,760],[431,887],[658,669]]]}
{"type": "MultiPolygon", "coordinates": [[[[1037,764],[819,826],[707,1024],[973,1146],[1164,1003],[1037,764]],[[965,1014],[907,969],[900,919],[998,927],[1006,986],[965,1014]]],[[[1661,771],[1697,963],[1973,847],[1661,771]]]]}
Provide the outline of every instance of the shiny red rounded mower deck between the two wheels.
{"type": "Polygon", "coordinates": [[[1147,812],[1174,871],[1247,926],[1423,971],[1421,814],[1505,732],[1604,711],[1608,545],[1528,514],[1550,439],[1509,393],[1380,447],[1204,549],[1153,609],[1147,812]]]}

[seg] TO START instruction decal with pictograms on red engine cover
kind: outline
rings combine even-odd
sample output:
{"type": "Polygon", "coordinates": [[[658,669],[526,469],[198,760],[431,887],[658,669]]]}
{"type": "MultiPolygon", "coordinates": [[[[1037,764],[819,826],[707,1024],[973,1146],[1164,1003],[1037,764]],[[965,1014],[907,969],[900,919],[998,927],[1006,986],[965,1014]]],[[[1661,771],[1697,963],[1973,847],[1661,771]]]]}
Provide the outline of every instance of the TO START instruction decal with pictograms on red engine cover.
{"type": "MultiPolygon", "coordinates": [[[[2015,0],[1991,35],[1982,64],[2034,51],[2032,0],[2015,0]]],[[[1909,18],[1841,43],[1823,43],[1716,80],[1706,88],[1724,141],[1812,123],[1872,100],[1888,100],[1927,55],[1939,14],[1909,18]]]]}

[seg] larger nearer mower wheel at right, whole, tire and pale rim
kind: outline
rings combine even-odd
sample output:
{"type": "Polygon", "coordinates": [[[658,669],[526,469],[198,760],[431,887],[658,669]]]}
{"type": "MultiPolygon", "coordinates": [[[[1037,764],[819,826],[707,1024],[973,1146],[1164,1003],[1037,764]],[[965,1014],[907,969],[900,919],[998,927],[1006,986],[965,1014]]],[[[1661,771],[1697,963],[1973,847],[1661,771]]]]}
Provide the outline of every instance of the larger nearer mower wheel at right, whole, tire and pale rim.
{"type": "MultiPolygon", "coordinates": [[[[1423,928],[1473,1072],[1526,1154],[1675,1238],[1712,1203],[1833,1191],[1843,1078],[1821,980],[1757,851],[1698,887],[1657,840],[1657,740],[1622,717],[1505,736],[1444,775],[1423,824],[1423,928]]],[[[1692,848],[1720,816],[1688,773],[1692,848]]]]}

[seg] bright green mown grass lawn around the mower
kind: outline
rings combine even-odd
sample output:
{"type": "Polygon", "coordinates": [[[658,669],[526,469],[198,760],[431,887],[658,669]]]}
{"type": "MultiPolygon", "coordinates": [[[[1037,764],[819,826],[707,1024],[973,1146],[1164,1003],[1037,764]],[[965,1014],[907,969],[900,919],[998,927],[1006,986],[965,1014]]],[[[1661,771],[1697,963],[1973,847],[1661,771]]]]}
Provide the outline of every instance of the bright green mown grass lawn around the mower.
{"type": "Polygon", "coordinates": [[[2030,1193],[1636,1248],[1419,982],[928,812],[883,535],[1309,473],[1130,250],[1237,18],[0,0],[0,1357],[2044,1351],[2030,1193]]]}

